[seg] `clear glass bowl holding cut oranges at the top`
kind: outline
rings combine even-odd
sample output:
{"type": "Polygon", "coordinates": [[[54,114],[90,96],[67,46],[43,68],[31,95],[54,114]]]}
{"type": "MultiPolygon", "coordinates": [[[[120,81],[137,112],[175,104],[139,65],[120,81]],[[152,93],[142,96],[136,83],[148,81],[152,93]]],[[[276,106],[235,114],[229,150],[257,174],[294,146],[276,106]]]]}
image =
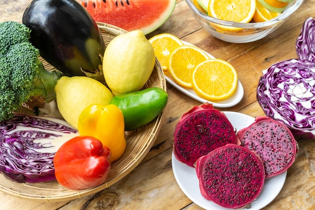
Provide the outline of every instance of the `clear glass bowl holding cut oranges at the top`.
{"type": "Polygon", "coordinates": [[[292,15],[302,4],[303,0],[291,2],[278,17],[260,23],[238,23],[212,18],[200,11],[193,3],[194,0],[185,0],[193,12],[198,23],[212,36],[231,43],[253,42],[264,38],[292,15]]]}

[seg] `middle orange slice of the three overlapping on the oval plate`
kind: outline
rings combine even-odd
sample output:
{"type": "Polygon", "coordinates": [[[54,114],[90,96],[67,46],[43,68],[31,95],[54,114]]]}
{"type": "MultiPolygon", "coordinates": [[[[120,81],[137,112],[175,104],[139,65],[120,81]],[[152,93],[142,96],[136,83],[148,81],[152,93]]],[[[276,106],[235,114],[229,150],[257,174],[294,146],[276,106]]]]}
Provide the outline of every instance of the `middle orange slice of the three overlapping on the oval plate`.
{"type": "Polygon", "coordinates": [[[184,88],[192,88],[191,74],[194,68],[209,58],[207,53],[198,47],[180,46],[170,54],[169,73],[178,85],[184,88]]]}

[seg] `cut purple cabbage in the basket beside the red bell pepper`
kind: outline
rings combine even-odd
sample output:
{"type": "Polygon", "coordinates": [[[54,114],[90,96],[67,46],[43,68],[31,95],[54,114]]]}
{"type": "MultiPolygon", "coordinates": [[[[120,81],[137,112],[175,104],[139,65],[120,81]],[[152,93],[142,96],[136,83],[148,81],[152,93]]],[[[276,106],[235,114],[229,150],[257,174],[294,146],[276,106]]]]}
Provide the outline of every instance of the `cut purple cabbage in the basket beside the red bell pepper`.
{"type": "Polygon", "coordinates": [[[53,157],[68,139],[78,135],[63,120],[16,115],[0,122],[0,172],[16,182],[55,180],[53,157]]]}

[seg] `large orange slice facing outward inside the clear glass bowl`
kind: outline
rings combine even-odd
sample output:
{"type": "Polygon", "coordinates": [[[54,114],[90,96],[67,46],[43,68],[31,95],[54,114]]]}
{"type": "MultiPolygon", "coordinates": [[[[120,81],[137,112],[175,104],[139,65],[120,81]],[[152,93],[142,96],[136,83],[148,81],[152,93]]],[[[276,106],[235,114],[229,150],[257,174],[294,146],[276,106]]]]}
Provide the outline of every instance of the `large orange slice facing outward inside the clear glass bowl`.
{"type": "MultiPolygon", "coordinates": [[[[210,0],[207,12],[209,16],[220,20],[249,23],[253,19],[255,10],[256,0],[210,0]]],[[[227,26],[218,27],[221,30],[240,30],[227,26]]]]}

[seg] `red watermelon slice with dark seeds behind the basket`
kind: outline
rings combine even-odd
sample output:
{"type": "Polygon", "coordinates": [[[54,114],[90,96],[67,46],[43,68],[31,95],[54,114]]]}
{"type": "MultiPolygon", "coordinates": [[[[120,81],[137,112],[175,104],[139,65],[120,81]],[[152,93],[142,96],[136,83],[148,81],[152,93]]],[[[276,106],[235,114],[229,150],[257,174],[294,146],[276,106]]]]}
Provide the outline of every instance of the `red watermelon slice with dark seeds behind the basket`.
{"type": "Polygon", "coordinates": [[[141,30],[148,34],[171,16],[176,0],[88,0],[78,1],[96,22],[103,22],[127,31],[141,30]]]}

